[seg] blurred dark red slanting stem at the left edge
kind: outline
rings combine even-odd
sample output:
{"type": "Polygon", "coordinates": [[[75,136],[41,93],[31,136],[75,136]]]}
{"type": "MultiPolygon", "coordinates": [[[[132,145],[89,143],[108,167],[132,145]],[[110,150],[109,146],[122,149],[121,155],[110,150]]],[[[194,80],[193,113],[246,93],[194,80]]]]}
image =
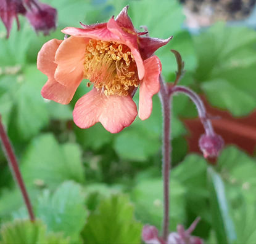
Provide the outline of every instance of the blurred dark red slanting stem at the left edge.
{"type": "Polygon", "coordinates": [[[6,159],[8,160],[10,170],[12,171],[12,175],[14,176],[14,179],[16,179],[20,187],[20,191],[22,192],[22,197],[27,207],[30,220],[35,221],[35,215],[33,213],[30,199],[28,197],[28,193],[27,193],[25,184],[23,182],[22,175],[19,170],[17,159],[15,157],[14,151],[12,150],[10,140],[7,136],[6,131],[4,130],[4,125],[2,124],[1,115],[0,115],[0,139],[2,141],[2,149],[6,153],[6,159]]]}

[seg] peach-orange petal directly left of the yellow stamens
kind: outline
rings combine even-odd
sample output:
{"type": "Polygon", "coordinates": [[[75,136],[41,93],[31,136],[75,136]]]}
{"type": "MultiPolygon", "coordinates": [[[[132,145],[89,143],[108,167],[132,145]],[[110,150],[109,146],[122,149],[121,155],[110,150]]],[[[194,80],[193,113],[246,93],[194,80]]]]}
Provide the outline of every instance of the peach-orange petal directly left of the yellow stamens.
{"type": "Polygon", "coordinates": [[[88,38],[68,37],[55,55],[57,69],[55,79],[67,87],[75,87],[83,79],[83,63],[88,38]]]}

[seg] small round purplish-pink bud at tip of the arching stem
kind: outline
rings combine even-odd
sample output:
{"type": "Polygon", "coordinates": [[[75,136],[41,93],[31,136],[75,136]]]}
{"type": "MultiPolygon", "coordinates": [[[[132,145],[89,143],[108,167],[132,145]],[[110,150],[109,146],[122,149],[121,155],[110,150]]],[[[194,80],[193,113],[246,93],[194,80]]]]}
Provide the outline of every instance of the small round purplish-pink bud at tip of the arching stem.
{"type": "Polygon", "coordinates": [[[218,157],[221,149],[224,146],[224,141],[220,135],[206,135],[203,134],[199,139],[199,148],[204,157],[218,157]]]}

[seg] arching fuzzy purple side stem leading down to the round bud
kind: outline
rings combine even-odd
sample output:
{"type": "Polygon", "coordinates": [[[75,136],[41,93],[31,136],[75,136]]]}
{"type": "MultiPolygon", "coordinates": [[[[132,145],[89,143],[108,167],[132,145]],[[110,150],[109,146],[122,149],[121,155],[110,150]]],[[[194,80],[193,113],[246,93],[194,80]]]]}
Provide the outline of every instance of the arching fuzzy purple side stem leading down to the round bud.
{"type": "Polygon", "coordinates": [[[170,95],[173,95],[174,93],[183,93],[192,100],[192,102],[196,105],[198,115],[200,117],[200,120],[202,124],[204,125],[205,133],[206,135],[212,136],[214,135],[214,130],[212,127],[212,122],[210,122],[210,119],[207,117],[207,112],[205,110],[205,106],[199,95],[197,95],[195,92],[193,92],[188,87],[183,87],[181,85],[176,85],[174,87],[168,87],[168,93],[170,95]]]}

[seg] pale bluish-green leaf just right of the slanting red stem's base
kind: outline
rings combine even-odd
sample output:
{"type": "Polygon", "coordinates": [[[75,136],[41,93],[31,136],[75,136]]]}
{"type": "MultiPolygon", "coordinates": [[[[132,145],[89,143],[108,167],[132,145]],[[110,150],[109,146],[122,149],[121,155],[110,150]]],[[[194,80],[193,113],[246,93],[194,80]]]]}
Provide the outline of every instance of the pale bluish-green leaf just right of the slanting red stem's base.
{"type": "Polygon", "coordinates": [[[48,190],[43,192],[36,213],[49,230],[61,231],[77,243],[87,216],[84,204],[85,195],[81,192],[81,186],[66,181],[52,195],[48,190]]]}

